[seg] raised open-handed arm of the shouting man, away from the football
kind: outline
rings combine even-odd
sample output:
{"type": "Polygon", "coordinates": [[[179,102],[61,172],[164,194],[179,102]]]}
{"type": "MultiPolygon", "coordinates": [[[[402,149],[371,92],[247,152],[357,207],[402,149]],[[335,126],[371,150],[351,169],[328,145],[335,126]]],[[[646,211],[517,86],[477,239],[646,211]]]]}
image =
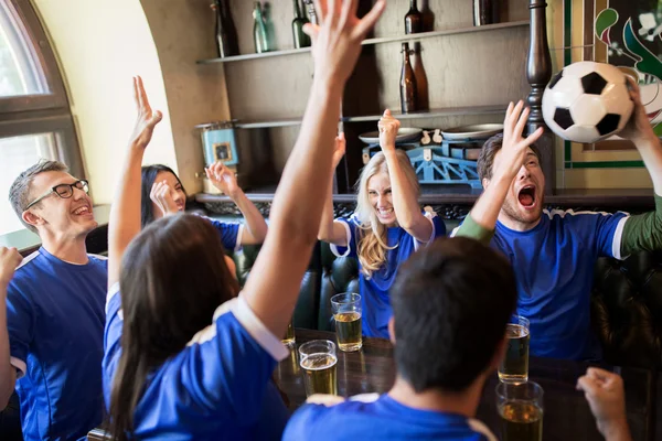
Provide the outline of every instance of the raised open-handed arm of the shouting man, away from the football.
{"type": "Polygon", "coordinates": [[[523,101],[508,106],[503,120],[503,147],[498,161],[494,161],[492,178],[482,183],[483,193],[455,236],[469,236],[482,241],[491,237],[490,232],[496,225],[508,190],[526,158],[526,148],[543,135],[543,129],[538,128],[526,138],[522,136],[528,118],[528,108],[522,111],[523,107],[523,101]]]}

